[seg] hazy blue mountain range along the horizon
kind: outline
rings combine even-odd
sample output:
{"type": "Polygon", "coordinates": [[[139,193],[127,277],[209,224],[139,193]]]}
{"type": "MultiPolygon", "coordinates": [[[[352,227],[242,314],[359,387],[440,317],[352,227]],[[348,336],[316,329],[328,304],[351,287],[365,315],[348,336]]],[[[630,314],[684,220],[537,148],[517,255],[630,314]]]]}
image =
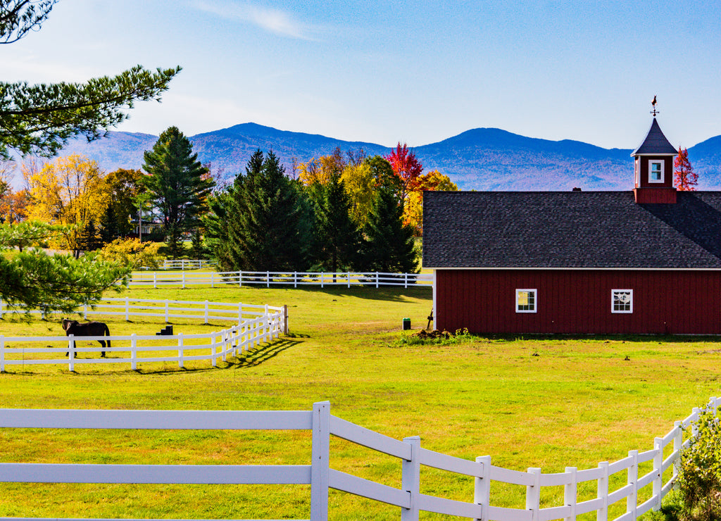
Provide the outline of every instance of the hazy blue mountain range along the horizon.
{"type": "MultiPolygon", "coordinates": [[[[293,160],[362,148],[368,156],[387,155],[391,149],[376,143],[342,141],[323,135],[288,132],[244,123],[214,132],[189,136],[193,150],[210,163],[222,179],[244,172],[258,148],[273,150],[286,172],[293,160]]],[[[110,132],[87,143],[73,140],[61,155],[81,153],[107,172],[139,169],[143,151],[157,136],[110,132]]],[[[438,143],[413,148],[425,172],[438,169],[461,190],[630,190],[633,178],[632,148],[601,148],[580,141],[528,138],[498,128],[475,128],[438,143]]],[[[699,174],[699,190],[721,190],[721,135],[689,148],[689,160],[699,174]]]]}

